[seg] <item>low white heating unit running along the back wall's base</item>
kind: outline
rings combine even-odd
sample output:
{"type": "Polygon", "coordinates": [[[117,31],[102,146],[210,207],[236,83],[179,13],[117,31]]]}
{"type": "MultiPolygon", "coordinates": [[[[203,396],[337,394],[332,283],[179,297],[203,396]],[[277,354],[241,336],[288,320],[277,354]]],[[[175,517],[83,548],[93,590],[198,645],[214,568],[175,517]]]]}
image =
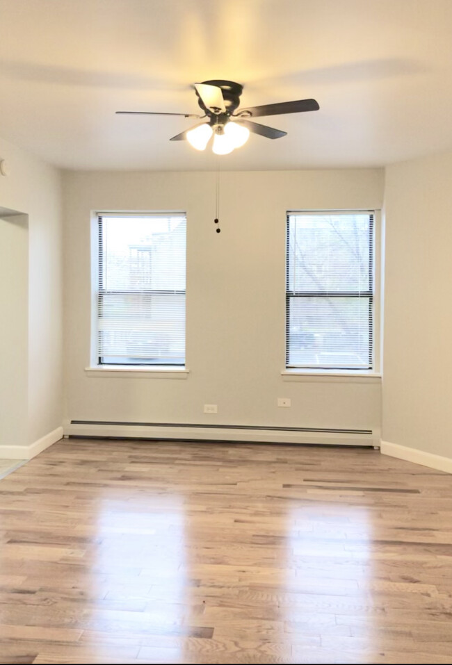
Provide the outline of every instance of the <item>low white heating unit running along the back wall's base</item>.
{"type": "Polygon", "coordinates": [[[171,439],[178,441],[236,441],[243,443],[325,443],[379,445],[372,429],[340,427],[277,427],[263,425],[208,425],[193,422],[124,422],[70,420],[65,436],[171,439]]]}

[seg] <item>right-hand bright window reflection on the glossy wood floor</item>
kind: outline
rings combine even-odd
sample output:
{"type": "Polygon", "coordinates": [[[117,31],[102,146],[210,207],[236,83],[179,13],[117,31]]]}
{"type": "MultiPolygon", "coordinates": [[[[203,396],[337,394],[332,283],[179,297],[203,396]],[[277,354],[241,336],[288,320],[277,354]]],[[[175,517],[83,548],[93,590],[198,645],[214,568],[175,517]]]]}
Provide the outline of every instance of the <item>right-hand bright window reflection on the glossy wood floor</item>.
{"type": "Polygon", "coordinates": [[[350,622],[342,623],[341,616],[366,609],[366,581],[372,576],[368,509],[318,499],[291,507],[286,522],[288,570],[295,568],[296,576],[286,580],[280,609],[293,662],[307,662],[297,660],[309,650],[301,638],[321,632],[334,648],[334,639],[350,637],[350,622]]]}

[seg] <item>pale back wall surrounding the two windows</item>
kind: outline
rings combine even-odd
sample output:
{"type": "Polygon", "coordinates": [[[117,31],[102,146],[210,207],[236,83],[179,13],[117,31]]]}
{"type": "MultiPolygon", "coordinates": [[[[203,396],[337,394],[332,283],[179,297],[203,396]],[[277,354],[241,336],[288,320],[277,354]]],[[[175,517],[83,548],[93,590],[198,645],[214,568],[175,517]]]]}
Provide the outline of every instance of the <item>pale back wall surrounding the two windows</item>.
{"type": "Polygon", "coordinates": [[[380,208],[381,170],[225,172],[215,232],[211,172],[67,172],[65,419],[380,427],[380,383],[284,382],[286,211],[380,208]],[[99,378],[90,362],[90,213],[186,211],[187,380],[99,378]],[[278,409],[277,397],[291,397],[278,409]],[[218,415],[204,415],[204,402],[218,415]]]}

